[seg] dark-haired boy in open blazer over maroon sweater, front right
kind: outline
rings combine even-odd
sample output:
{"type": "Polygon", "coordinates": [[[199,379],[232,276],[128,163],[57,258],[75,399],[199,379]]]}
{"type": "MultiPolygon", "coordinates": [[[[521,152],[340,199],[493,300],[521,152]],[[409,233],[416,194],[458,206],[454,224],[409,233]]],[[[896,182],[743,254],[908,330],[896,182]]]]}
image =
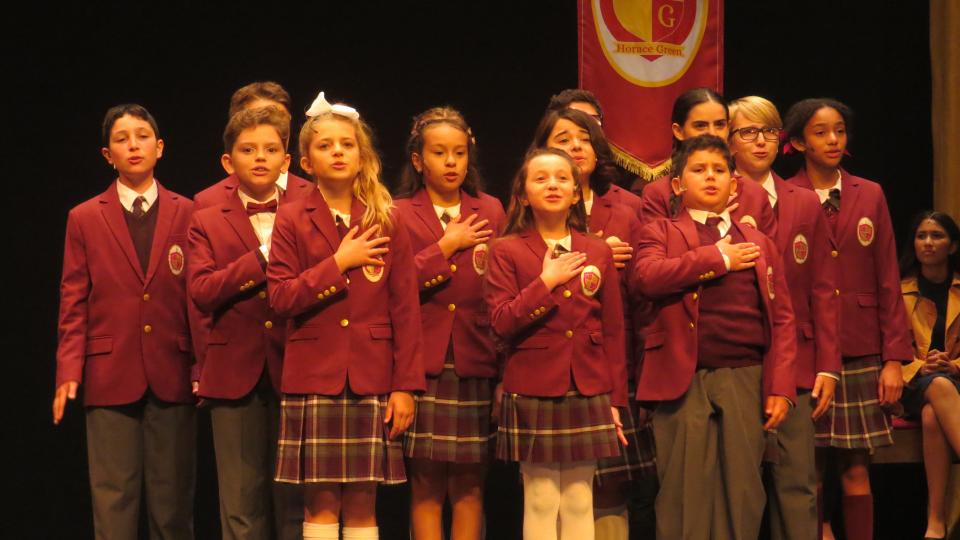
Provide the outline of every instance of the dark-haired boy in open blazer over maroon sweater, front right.
{"type": "Polygon", "coordinates": [[[796,399],[789,291],[773,241],[726,209],[726,143],[688,139],[673,166],[684,210],[643,229],[634,269],[658,310],[637,379],[655,406],[657,537],[756,538],[764,430],[796,399]]]}

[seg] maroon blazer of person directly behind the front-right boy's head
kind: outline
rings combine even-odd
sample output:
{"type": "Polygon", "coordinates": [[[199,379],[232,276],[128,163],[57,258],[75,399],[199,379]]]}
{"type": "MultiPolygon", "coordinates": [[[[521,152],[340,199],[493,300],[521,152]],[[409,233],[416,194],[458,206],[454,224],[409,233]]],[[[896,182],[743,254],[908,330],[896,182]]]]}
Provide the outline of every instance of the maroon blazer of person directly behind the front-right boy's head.
{"type": "MultiPolygon", "coordinates": [[[[673,188],[670,186],[670,175],[664,175],[650,182],[643,188],[641,195],[643,204],[643,223],[655,219],[671,218],[670,198],[673,188]]],[[[737,223],[749,223],[760,232],[773,238],[777,234],[777,221],[770,208],[770,199],[767,192],[756,182],[737,178],[737,198],[733,202],[737,207],[730,212],[730,217],[737,223]]],[[[683,205],[680,204],[678,209],[683,205]]]]}

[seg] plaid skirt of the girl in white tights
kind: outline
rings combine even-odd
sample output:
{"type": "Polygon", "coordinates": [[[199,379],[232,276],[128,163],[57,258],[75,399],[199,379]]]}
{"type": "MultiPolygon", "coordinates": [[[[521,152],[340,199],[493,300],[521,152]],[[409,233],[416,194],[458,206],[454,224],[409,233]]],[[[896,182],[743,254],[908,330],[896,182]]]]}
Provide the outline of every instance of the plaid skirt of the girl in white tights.
{"type": "Polygon", "coordinates": [[[568,463],[619,454],[609,394],[587,397],[576,390],[557,398],[503,394],[498,459],[568,463]]]}

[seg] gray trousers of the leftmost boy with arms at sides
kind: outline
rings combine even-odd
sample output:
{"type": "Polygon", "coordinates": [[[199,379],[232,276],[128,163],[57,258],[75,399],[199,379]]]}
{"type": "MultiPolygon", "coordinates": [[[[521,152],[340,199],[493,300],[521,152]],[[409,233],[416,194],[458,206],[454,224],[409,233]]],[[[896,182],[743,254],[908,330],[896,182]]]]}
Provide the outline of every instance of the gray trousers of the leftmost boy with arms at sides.
{"type": "Polygon", "coordinates": [[[196,408],[148,394],[130,405],[87,407],[85,414],[97,540],[137,538],[141,493],[151,539],[192,539],[196,408]]]}

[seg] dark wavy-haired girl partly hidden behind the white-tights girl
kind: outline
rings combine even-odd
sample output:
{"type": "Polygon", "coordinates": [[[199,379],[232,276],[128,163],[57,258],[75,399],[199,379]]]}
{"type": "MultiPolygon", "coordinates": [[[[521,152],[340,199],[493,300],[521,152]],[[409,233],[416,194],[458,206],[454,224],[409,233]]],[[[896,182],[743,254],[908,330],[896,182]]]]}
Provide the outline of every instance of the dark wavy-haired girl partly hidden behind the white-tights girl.
{"type": "MultiPolygon", "coordinates": [[[[581,110],[564,108],[549,111],[540,121],[533,137],[536,148],[563,150],[577,162],[583,174],[584,206],[587,210],[587,230],[602,238],[613,250],[614,266],[620,276],[620,293],[624,302],[624,333],[628,374],[634,373],[636,345],[639,336],[634,328],[643,324],[643,313],[648,302],[628,293],[632,267],[633,245],[640,233],[637,210],[640,198],[616,185],[618,178],[613,153],[603,128],[596,117],[581,110]],[[638,324],[635,324],[638,323],[638,324]]],[[[641,345],[642,347],[642,345],[641,345]]],[[[641,352],[642,348],[639,349],[641,352]]],[[[632,377],[631,377],[632,378],[632,377]]],[[[636,385],[630,381],[632,396],[636,385]]],[[[594,514],[598,539],[626,540],[629,535],[627,490],[641,475],[656,474],[653,433],[649,424],[637,425],[632,410],[636,401],[620,409],[623,432],[630,445],[621,448],[619,456],[605,458],[598,463],[594,479],[594,514]]]]}

